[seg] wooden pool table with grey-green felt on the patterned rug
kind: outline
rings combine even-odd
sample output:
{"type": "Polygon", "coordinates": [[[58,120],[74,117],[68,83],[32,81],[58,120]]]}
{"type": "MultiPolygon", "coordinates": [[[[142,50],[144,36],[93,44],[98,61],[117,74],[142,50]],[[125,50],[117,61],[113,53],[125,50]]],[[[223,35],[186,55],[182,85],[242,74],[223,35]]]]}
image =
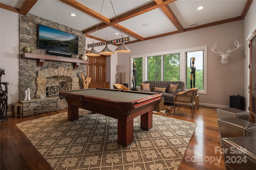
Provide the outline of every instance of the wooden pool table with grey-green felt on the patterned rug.
{"type": "Polygon", "coordinates": [[[133,139],[133,119],[140,116],[140,127],[152,128],[152,109],[162,95],[104,88],[60,91],[68,103],[68,120],[78,119],[78,107],[118,119],[118,143],[127,147],[133,139]]]}

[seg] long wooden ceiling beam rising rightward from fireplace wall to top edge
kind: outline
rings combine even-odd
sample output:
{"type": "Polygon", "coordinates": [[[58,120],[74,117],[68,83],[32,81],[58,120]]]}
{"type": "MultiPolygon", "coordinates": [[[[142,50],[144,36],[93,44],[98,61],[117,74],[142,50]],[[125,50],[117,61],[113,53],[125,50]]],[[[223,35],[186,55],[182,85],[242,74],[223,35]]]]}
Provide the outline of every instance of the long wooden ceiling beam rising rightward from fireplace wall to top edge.
{"type": "Polygon", "coordinates": [[[83,33],[84,34],[93,33],[93,32],[96,31],[96,29],[100,30],[100,29],[106,28],[106,27],[114,25],[118,22],[122,22],[122,21],[128,20],[130,18],[133,18],[135,16],[139,16],[140,14],[143,14],[145,12],[149,12],[151,10],[154,10],[156,8],[159,8],[159,7],[164,6],[166,4],[170,4],[170,3],[175,2],[175,1],[176,0],[166,0],[162,3],[160,3],[160,4],[156,4],[155,2],[152,2],[148,5],[142,6],[138,9],[136,9],[136,10],[133,10],[133,11],[128,12],[128,13],[122,15],[122,16],[119,16],[117,18],[114,18],[114,19],[110,20],[109,24],[102,23],[102,24],[98,25],[98,29],[97,29],[97,26],[94,26],[94,27],[91,27],[89,29],[84,30],[83,33]],[[116,21],[116,19],[117,19],[117,21],[116,21]]]}

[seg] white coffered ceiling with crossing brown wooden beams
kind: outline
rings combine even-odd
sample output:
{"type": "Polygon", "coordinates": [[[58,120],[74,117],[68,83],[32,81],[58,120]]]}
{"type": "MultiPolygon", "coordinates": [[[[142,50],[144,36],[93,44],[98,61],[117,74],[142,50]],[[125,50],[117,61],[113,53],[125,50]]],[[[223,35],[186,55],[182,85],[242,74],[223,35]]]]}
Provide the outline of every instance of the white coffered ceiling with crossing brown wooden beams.
{"type": "MultiPolygon", "coordinates": [[[[1,0],[0,7],[83,31],[98,41],[144,41],[243,20],[252,0],[1,0]],[[112,8],[113,6],[113,8],[112,8]],[[199,6],[204,6],[198,10],[199,6]],[[114,10],[113,10],[114,9],[114,10]],[[70,14],[76,14],[71,16],[70,14]],[[98,25],[98,27],[97,27],[98,25]],[[116,35],[115,33],[118,33],[116,35]]],[[[90,42],[89,42],[90,43],[90,42]]]]}

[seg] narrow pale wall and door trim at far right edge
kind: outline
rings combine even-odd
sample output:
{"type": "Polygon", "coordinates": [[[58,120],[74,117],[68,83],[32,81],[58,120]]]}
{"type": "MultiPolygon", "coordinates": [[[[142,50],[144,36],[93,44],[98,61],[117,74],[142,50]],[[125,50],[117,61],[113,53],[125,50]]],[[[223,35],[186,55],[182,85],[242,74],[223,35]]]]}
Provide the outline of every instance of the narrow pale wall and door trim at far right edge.
{"type": "Polygon", "coordinates": [[[252,1],[250,9],[248,10],[246,17],[244,18],[244,43],[245,46],[245,62],[244,62],[244,94],[246,96],[246,110],[248,111],[249,103],[249,93],[248,86],[250,85],[250,72],[248,69],[248,65],[250,64],[250,49],[248,48],[248,41],[246,40],[253,31],[256,31],[256,1],[252,1]]]}

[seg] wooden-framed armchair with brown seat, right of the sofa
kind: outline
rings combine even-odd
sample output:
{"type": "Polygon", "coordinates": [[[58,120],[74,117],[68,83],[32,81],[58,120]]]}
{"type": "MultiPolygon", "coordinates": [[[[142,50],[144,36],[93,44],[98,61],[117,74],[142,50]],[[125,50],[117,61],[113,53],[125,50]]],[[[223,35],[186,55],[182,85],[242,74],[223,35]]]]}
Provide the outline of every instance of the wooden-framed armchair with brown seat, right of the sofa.
{"type": "Polygon", "coordinates": [[[179,92],[174,94],[173,106],[174,106],[174,114],[175,114],[175,106],[178,105],[178,110],[180,105],[181,106],[189,106],[191,107],[191,114],[193,117],[193,111],[195,114],[195,98],[197,94],[198,88],[191,88],[184,92],[179,92]]]}

